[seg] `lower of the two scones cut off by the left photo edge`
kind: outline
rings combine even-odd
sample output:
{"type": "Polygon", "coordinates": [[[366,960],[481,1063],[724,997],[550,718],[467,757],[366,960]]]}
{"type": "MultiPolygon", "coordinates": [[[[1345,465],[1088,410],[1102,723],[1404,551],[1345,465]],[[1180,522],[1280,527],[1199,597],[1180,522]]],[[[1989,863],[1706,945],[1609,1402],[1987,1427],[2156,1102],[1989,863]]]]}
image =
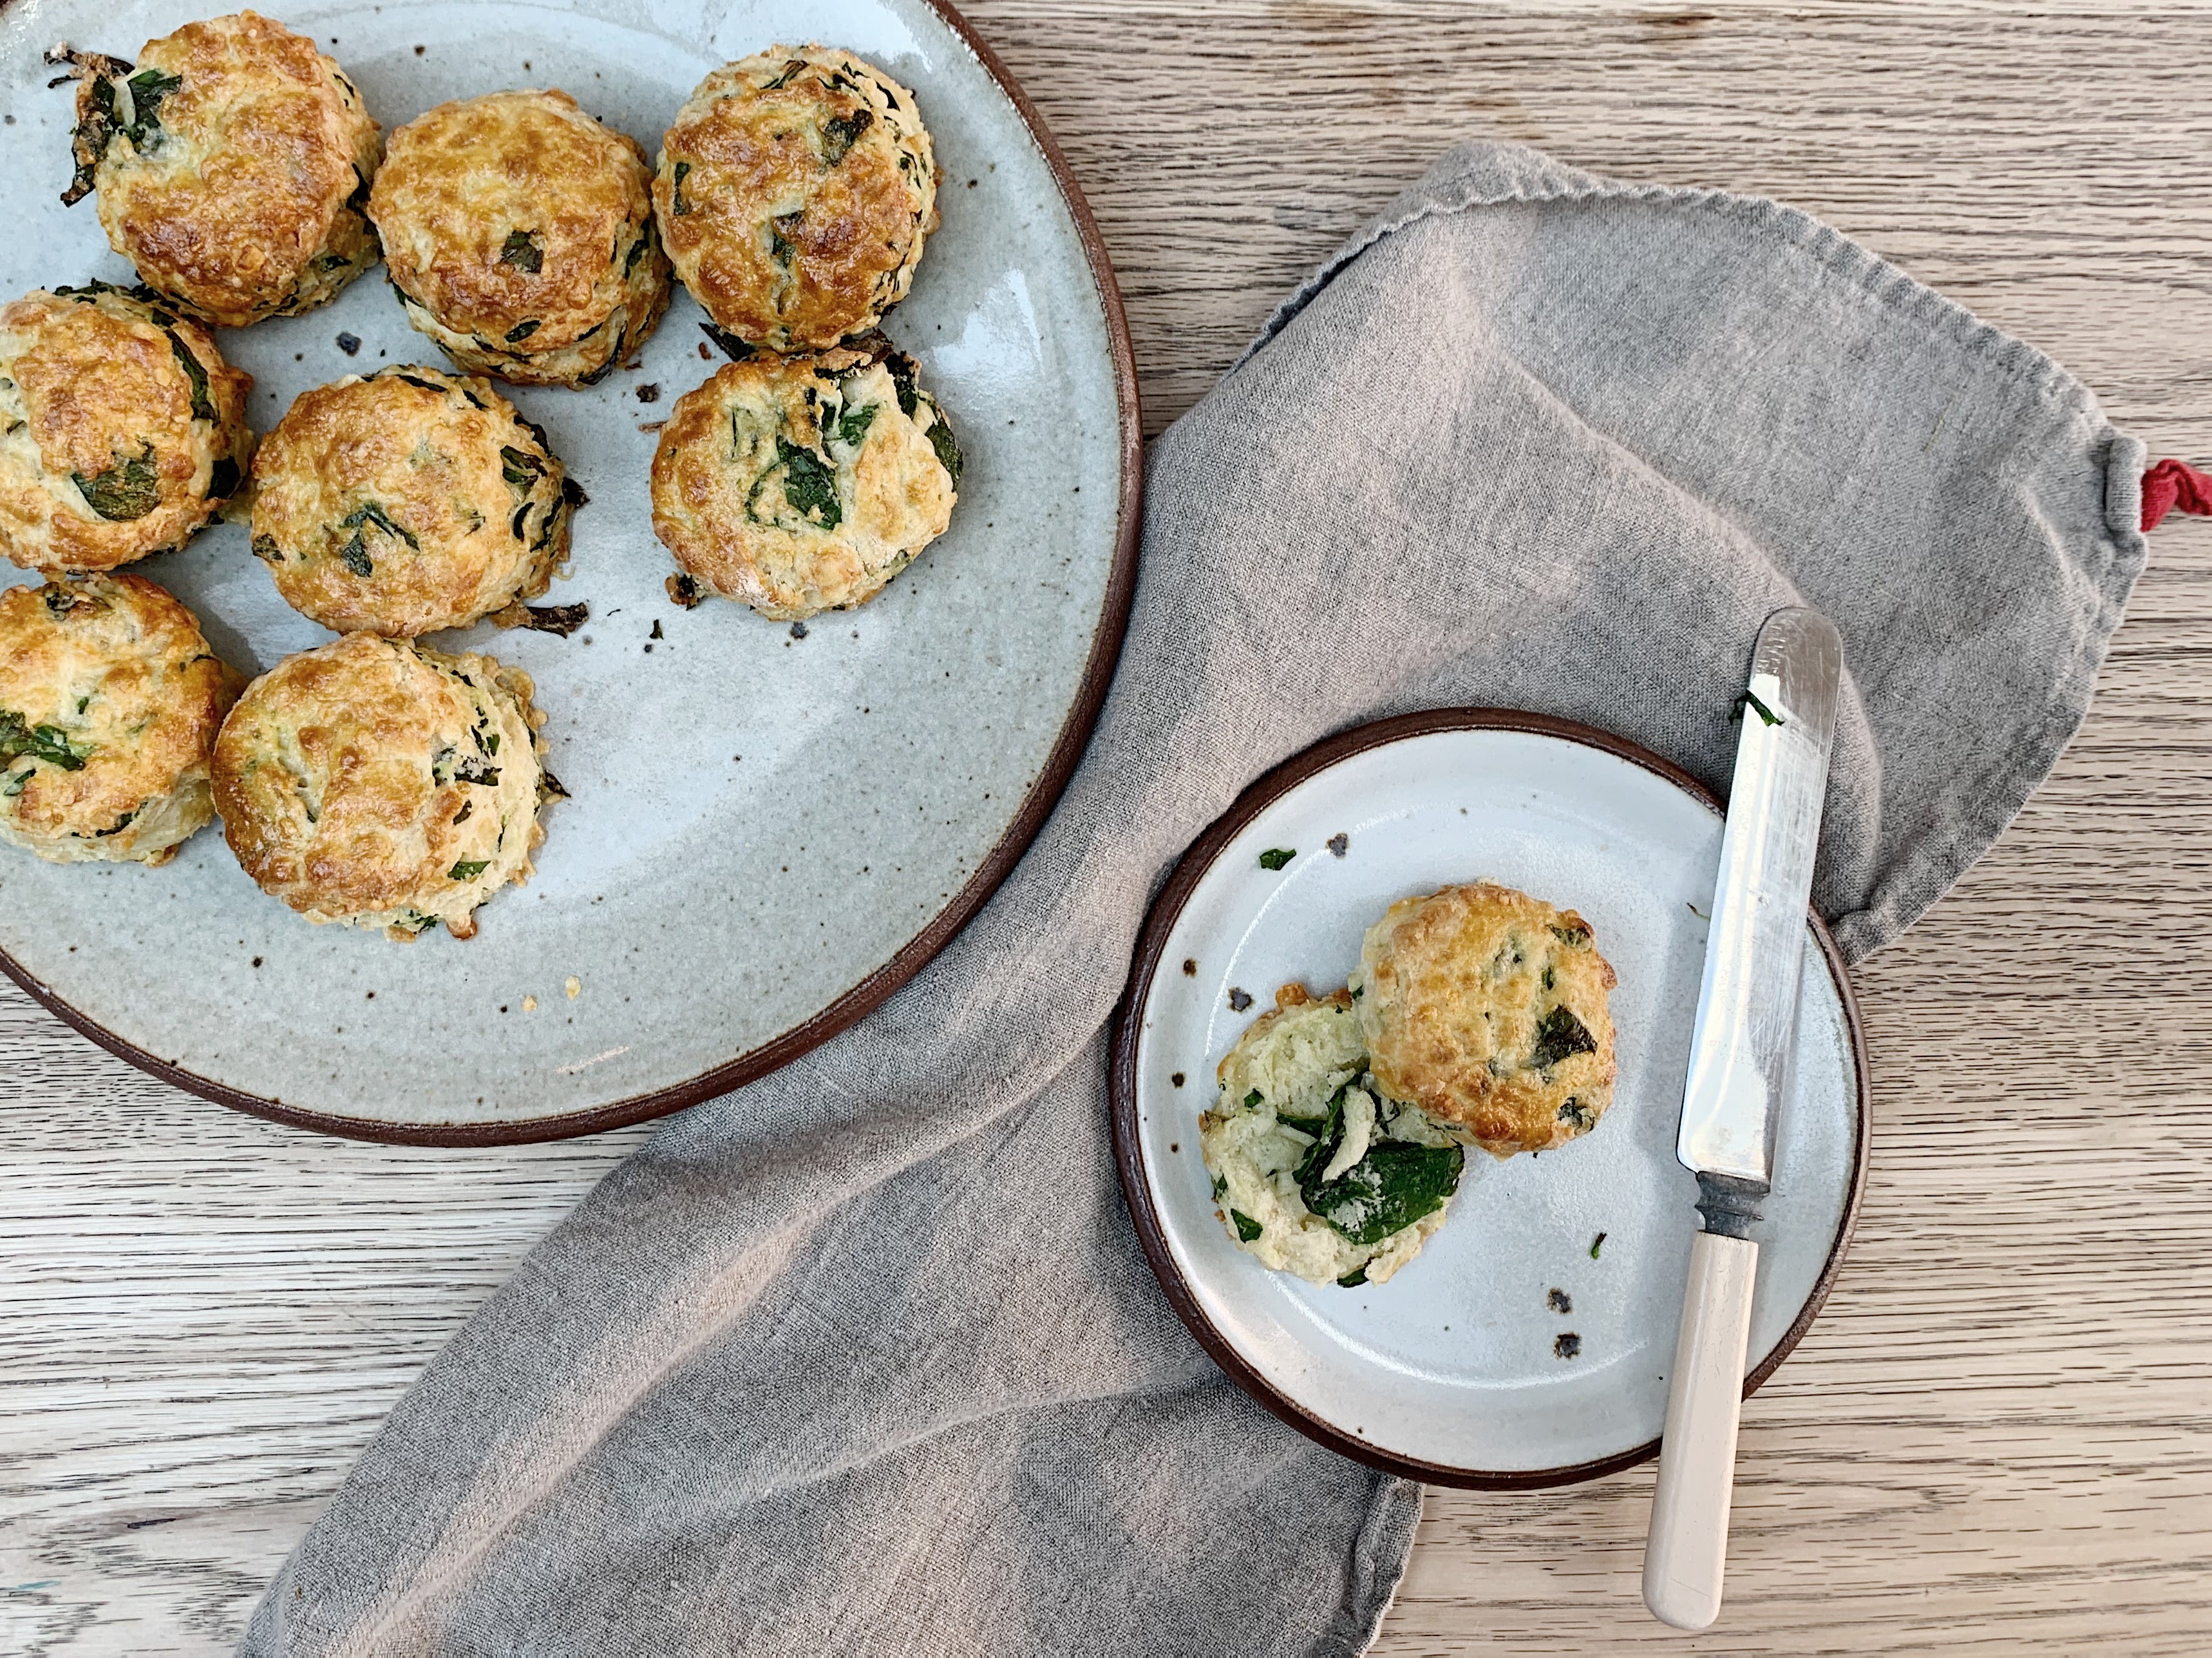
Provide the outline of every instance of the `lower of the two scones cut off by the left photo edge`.
{"type": "Polygon", "coordinates": [[[0,593],[0,841],[168,863],[215,817],[208,753],[243,680],[144,576],[0,593]]]}

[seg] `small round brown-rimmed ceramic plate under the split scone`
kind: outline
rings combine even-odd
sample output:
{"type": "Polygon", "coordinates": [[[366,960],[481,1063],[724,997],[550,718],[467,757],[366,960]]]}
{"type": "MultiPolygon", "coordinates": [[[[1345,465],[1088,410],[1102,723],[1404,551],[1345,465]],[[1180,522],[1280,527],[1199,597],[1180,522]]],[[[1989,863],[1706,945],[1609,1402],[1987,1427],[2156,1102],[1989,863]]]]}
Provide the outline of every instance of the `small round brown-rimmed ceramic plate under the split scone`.
{"type": "MultiPolygon", "coordinates": [[[[1659,1448],[1697,1229],[1674,1127],[1719,852],[1721,808],[1686,773],[1584,726],[1484,708],[1334,737],[1190,848],[1115,1029],[1115,1151],[1152,1271],[1248,1392],[1349,1457],[1447,1485],[1562,1485],[1659,1448]],[[1294,852],[1281,870],[1261,863],[1281,850],[1294,852]],[[1279,985],[1343,985],[1389,903],[1473,879],[1597,930],[1619,972],[1613,1109],[1557,1151],[1469,1153],[1442,1231],[1389,1284],[1265,1271],[1230,1242],[1199,1160],[1214,1067],[1279,985]]],[[[1818,1310],[1865,1167],[1858,1020],[1812,916],[1803,983],[1745,1390],[1818,1310]]]]}

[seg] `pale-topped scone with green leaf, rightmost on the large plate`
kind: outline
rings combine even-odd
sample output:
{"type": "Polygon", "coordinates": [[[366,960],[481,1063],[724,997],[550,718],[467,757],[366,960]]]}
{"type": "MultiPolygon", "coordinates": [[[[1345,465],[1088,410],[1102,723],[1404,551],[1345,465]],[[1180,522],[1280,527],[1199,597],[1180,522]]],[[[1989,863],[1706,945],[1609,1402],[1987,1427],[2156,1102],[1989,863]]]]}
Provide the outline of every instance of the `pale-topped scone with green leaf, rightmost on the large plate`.
{"type": "Polygon", "coordinates": [[[869,350],[761,354],[668,412],[653,533],[695,578],[688,593],[794,622],[880,593],[945,533],[958,483],[951,425],[883,336],[869,350]]]}

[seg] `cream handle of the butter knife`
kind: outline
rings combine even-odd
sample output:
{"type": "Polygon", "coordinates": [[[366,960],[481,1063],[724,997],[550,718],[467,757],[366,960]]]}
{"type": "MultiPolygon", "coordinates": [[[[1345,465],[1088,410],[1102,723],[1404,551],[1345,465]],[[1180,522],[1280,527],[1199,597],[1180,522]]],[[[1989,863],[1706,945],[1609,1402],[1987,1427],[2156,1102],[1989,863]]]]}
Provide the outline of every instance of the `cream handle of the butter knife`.
{"type": "Polygon", "coordinates": [[[1674,1337],[1666,1439],[1659,1441],[1659,1490],[1644,1545],[1644,1605],[1677,1629],[1710,1629],[1721,1616],[1756,1271],[1759,1244],[1747,1237],[1699,1233],[1690,1244],[1690,1288],[1674,1337]]]}

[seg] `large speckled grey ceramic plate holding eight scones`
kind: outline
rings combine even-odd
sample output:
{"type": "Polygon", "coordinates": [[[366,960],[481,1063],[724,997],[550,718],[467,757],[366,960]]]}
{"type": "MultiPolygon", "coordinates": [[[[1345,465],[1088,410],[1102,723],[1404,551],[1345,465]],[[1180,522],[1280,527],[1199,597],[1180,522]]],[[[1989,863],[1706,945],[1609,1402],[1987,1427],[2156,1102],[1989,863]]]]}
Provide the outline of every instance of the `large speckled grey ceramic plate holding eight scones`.
{"type": "MultiPolygon", "coordinates": [[[[135,58],[219,0],[0,9],[0,294],[133,281],[95,204],[64,208],[58,40],[135,58]]],[[[542,1140],[721,1094],[843,1029],[982,905],[1044,821],[1113,673],[1135,573],[1135,370],[1097,230],[1035,113],[967,24],[925,0],[276,0],[385,131],[451,97],[560,86],[659,148],[692,84],[774,42],[843,44],[909,84],[945,166],[945,224],[885,330],[967,452],[951,531],[876,602],[796,629],[675,607],[646,498],[648,423],[703,381],[677,290],[635,370],[584,392],[502,387],[591,491],[573,638],[478,626],[538,682],[551,770],[535,879],[478,936],[414,945],[312,928],[219,830],[175,863],[0,859],[0,965],[77,1029],[226,1105],[334,1133],[542,1140]],[[653,403],[641,387],[659,387],[653,403]]],[[[307,317],[219,334],[252,425],[378,363],[442,363],[374,270],[307,317]],[[358,341],[356,352],[341,339],[358,341]]],[[[0,567],[7,569],[7,567],[0,567]]],[[[217,527],[133,564],[259,673],[330,633],[217,527]]],[[[31,580],[7,571],[4,580],[31,580]]]]}

